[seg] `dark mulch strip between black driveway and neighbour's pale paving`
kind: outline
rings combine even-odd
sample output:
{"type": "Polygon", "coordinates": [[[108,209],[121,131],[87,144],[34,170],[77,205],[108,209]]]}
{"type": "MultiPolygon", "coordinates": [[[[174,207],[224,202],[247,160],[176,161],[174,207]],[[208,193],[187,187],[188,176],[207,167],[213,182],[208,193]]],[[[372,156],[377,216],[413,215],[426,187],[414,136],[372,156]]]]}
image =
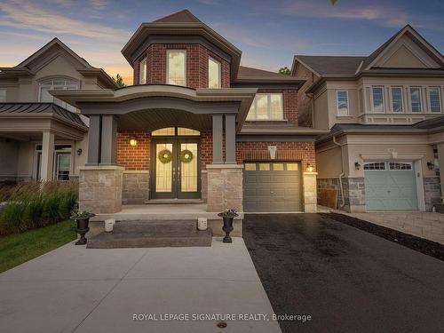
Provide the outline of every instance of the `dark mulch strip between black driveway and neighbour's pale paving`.
{"type": "Polygon", "coordinates": [[[427,256],[437,258],[444,261],[444,245],[439,242],[432,242],[424,238],[416,237],[412,234],[404,234],[400,231],[387,228],[385,226],[378,226],[360,218],[352,218],[348,215],[339,213],[322,213],[326,218],[333,218],[338,222],[342,222],[348,226],[366,231],[370,234],[375,234],[379,237],[385,238],[387,241],[396,242],[411,250],[424,253],[427,256]]]}

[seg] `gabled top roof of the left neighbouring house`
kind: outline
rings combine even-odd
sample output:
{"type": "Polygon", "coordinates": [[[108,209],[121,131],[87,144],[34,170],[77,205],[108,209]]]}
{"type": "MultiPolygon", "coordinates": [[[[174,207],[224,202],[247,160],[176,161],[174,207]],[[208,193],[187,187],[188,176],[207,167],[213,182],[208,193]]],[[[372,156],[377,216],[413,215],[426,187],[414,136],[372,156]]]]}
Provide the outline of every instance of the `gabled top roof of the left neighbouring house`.
{"type": "Polygon", "coordinates": [[[114,80],[107,75],[107,73],[102,69],[98,67],[92,67],[88,61],[80,57],[77,53],[75,53],[73,50],[71,50],[66,44],[61,42],[59,38],[54,37],[52,40],[44,44],[40,49],[38,49],[36,52],[31,54],[27,59],[24,59],[20,62],[19,65],[14,67],[0,67],[0,73],[4,75],[34,75],[35,73],[32,71],[32,63],[39,59],[40,57],[44,56],[44,52],[47,52],[52,47],[58,46],[63,51],[67,52],[73,59],[77,61],[77,63],[80,65],[77,70],[82,73],[83,75],[98,75],[99,78],[107,84],[107,88],[117,88],[117,85],[115,84],[114,80]]]}

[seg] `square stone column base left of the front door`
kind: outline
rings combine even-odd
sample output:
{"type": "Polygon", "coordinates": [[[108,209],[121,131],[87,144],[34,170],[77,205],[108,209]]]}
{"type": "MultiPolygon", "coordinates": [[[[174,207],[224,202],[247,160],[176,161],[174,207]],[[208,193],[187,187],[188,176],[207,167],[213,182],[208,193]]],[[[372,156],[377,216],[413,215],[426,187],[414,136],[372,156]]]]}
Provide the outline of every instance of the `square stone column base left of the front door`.
{"type": "Polygon", "coordinates": [[[122,210],[123,170],[115,165],[80,167],[79,210],[115,213],[122,210]]]}

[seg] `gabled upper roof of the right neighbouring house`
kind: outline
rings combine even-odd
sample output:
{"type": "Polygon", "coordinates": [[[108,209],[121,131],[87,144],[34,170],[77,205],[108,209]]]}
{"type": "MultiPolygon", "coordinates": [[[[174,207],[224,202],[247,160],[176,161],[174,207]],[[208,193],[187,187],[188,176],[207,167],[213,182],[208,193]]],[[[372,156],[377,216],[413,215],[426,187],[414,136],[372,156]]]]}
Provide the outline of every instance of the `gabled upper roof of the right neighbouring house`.
{"type": "MultiPolygon", "coordinates": [[[[292,72],[294,73],[297,63],[300,63],[312,70],[314,74],[321,77],[355,77],[362,73],[369,73],[370,71],[380,71],[382,68],[372,68],[372,64],[387,50],[393,43],[398,41],[401,36],[408,34],[410,38],[417,44],[422,45],[424,52],[427,52],[439,64],[440,68],[433,68],[435,70],[444,69],[444,59],[442,54],[437,51],[432,44],[428,43],[423,36],[412,28],[410,25],[401,28],[396,34],[389,38],[384,44],[379,46],[375,52],[372,52],[367,57],[348,57],[348,56],[307,56],[297,55],[293,60],[292,72]]],[[[389,71],[392,68],[383,68],[389,71]]],[[[417,68],[405,68],[406,71],[414,71],[417,68]]],[[[400,68],[396,68],[400,71],[400,68]]],[[[424,71],[431,70],[431,68],[422,69],[424,71]]]]}

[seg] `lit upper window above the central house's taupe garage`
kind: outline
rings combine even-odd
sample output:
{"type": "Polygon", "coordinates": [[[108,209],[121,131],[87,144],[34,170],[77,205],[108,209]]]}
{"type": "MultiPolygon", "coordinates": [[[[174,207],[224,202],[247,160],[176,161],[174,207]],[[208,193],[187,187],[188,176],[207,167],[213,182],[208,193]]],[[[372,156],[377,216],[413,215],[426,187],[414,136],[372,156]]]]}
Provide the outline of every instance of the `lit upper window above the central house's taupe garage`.
{"type": "Polygon", "coordinates": [[[281,93],[258,93],[251,104],[247,120],[282,120],[282,109],[281,93]]]}

